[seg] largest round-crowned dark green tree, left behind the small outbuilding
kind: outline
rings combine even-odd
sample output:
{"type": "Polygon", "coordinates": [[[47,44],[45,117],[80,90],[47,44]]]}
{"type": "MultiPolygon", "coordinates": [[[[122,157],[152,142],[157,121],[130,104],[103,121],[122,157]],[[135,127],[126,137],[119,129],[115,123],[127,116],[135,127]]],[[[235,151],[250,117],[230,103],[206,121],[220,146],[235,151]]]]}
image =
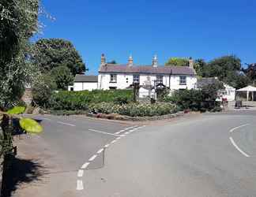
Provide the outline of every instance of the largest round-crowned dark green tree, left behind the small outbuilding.
{"type": "Polygon", "coordinates": [[[85,72],[81,55],[70,41],[64,39],[40,39],[36,42],[37,53],[34,61],[43,72],[51,71],[58,66],[66,66],[73,76],[85,72]]]}

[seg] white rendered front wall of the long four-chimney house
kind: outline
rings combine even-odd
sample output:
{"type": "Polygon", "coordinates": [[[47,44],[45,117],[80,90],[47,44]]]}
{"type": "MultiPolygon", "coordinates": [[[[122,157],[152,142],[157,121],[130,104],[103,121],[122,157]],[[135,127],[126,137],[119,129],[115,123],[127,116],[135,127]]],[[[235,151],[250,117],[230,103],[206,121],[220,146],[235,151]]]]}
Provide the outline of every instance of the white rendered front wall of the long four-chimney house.
{"type": "MultiPolygon", "coordinates": [[[[117,89],[125,89],[133,84],[134,75],[133,74],[122,74],[117,73],[117,83],[110,83],[111,73],[100,73],[98,76],[98,88],[103,90],[108,90],[109,87],[116,87],[117,89]],[[127,83],[128,82],[128,83],[127,83]]],[[[184,76],[184,75],[181,75],[184,76]]],[[[140,74],[140,84],[145,85],[145,82],[150,77],[151,84],[154,85],[154,80],[156,80],[156,75],[140,74]]],[[[186,85],[179,85],[179,75],[171,75],[171,90],[179,89],[192,89],[197,83],[196,76],[186,76],[186,85]]],[[[163,84],[169,87],[169,75],[163,75],[163,84]]]]}

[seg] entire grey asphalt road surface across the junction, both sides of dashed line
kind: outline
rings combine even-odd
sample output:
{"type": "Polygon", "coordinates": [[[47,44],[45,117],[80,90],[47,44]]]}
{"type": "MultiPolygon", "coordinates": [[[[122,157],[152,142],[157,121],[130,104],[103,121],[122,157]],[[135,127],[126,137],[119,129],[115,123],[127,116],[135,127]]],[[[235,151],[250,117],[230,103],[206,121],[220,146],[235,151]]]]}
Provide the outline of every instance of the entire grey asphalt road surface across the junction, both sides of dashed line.
{"type": "Polygon", "coordinates": [[[255,118],[253,111],[205,113],[143,127],[40,116],[45,131],[20,146],[24,155],[36,147],[44,175],[14,196],[253,197],[255,118]]]}

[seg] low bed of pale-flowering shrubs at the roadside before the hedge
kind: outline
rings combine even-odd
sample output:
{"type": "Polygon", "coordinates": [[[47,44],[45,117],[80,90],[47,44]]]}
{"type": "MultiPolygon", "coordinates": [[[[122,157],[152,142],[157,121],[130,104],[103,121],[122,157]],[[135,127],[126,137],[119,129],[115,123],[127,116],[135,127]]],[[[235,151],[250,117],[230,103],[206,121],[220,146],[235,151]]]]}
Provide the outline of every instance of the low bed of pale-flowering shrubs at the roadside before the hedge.
{"type": "Polygon", "coordinates": [[[119,113],[130,117],[152,117],[175,113],[176,108],[170,103],[115,105],[111,102],[100,102],[92,103],[89,106],[89,111],[92,113],[119,113]]]}

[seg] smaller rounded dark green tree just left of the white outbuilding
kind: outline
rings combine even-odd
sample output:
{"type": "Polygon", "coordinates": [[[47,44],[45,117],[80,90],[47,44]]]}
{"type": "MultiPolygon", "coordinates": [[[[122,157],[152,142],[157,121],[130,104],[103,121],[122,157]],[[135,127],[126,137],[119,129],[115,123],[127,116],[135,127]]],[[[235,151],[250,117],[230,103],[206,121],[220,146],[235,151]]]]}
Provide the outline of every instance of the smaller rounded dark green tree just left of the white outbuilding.
{"type": "Polygon", "coordinates": [[[51,76],[55,80],[58,89],[67,90],[67,87],[73,82],[73,76],[70,69],[63,65],[52,69],[51,76]]]}

